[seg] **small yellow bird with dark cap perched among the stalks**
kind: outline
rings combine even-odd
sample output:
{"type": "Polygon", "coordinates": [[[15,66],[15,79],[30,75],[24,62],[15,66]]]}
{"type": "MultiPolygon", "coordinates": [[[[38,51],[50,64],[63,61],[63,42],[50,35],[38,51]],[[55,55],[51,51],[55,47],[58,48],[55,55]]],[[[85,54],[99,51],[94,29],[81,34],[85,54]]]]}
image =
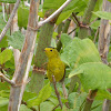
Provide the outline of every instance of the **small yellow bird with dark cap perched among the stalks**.
{"type": "Polygon", "coordinates": [[[52,82],[52,75],[54,75],[56,81],[61,81],[64,78],[64,63],[61,61],[59,52],[54,48],[46,48],[46,54],[48,57],[48,79],[52,82]]]}

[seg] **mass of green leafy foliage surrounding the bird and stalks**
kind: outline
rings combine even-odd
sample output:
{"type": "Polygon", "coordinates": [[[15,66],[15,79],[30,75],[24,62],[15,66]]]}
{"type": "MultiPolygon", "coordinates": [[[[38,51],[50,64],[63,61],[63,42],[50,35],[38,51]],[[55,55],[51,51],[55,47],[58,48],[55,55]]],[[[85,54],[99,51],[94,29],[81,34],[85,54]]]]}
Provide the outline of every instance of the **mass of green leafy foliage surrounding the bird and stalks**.
{"type": "MultiPolygon", "coordinates": [[[[0,0],[0,2],[3,3],[14,3],[17,0],[0,0]]],[[[54,20],[57,29],[60,24],[62,24],[60,33],[56,28],[53,29],[52,39],[50,40],[51,46],[57,46],[58,42],[61,42],[62,44],[62,47],[60,48],[60,57],[61,60],[65,63],[64,84],[65,91],[68,93],[68,98],[65,99],[62,85],[60,84],[60,82],[58,82],[57,88],[63,104],[62,109],[59,105],[53,84],[50,83],[47,75],[44,75],[43,67],[46,65],[46,63],[43,63],[43,67],[41,68],[36,69],[36,67],[33,67],[36,65],[33,63],[33,61],[36,60],[36,54],[39,56],[39,52],[34,50],[29,78],[32,75],[32,71],[43,71],[43,80],[37,80],[40,84],[41,81],[43,81],[43,87],[37,94],[34,91],[30,90],[29,81],[23,93],[20,111],[84,111],[83,109],[85,108],[87,103],[85,100],[88,99],[88,97],[90,97],[90,91],[97,91],[94,98],[91,98],[91,100],[93,100],[93,103],[90,108],[91,111],[102,111],[103,100],[111,100],[111,93],[108,91],[108,89],[111,89],[111,68],[102,63],[101,56],[98,51],[99,36],[95,37],[95,32],[100,27],[101,19],[111,20],[111,12],[101,11],[103,2],[102,0],[98,0],[93,11],[91,11],[91,23],[80,27],[80,18],[83,18],[83,16],[85,14],[85,9],[88,8],[90,1],[91,0],[72,0],[68,4],[68,7],[65,7],[63,11],[57,16],[54,20]],[[72,12],[75,14],[78,20],[73,17],[72,12]],[[62,29],[64,28],[63,23],[67,19],[70,19],[71,22],[74,22],[73,26],[77,26],[74,27],[74,30],[72,29],[71,33],[74,32],[73,36],[69,33],[70,31],[68,31],[68,33],[62,33],[62,29]],[[88,34],[88,38],[84,37],[85,39],[80,39],[80,28],[85,27],[87,29],[91,28],[91,30],[89,30],[90,34],[88,34]],[[78,81],[75,81],[75,85],[71,84],[71,81],[74,77],[79,78],[81,82],[80,88],[78,81]],[[74,89],[69,93],[69,89],[71,85],[74,85],[74,89]]],[[[111,0],[109,1],[111,2],[111,0]]],[[[65,0],[44,0],[43,4],[41,4],[39,8],[39,21],[41,18],[48,18],[64,2],[65,0]]],[[[10,30],[8,30],[4,38],[0,41],[0,73],[3,73],[3,75],[8,77],[8,79],[10,80],[12,79],[16,71],[14,54],[12,49],[18,49],[19,51],[22,50],[26,34],[22,33],[21,30],[27,30],[29,7],[24,6],[24,2],[21,1],[17,13],[19,30],[13,33],[10,33],[10,30]]],[[[10,14],[7,13],[6,18],[9,16],[10,14]]],[[[52,24],[53,21],[50,21],[49,23],[52,24]]],[[[0,32],[3,30],[4,26],[6,22],[3,20],[3,14],[2,12],[0,12],[0,32]]],[[[40,31],[41,28],[38,30],[36,40],[36,44],[38,47],[39,39],[41,38],[40,31]]],[[[46,34],[47,32],[44,33],[44,36],[46,34]]],[[[47,39],[46,41],[42,40],[42,44],[44,44],[46,42],[48,42],[47,39]]],[[[111,63],[111,44],[109,47],[108,62],[109,64],[111,63]]],[[[2,78],[0,78],[0,111],[7,111],[10,98],[10,84],[2,80],[2,78]]]]}

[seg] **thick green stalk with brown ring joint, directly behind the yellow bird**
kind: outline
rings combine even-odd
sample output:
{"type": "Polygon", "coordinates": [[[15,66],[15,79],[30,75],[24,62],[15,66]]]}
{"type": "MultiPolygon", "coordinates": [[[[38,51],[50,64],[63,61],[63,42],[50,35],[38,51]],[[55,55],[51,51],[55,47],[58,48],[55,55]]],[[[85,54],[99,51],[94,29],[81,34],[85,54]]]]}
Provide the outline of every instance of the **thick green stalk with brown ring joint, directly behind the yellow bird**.
{"type": "Polygon", "coordinates": [[[53,33],[54,23],[48,22],[41,27],[40,37],[37,47],[37,53],[34,57],[34,68],[31,75],[29,89],[32,92],[39,93],[44,82],[44,70],[47,63],[47,57],[44,48],[50,47],[51,38],[53,33]],[[39,70],[40,69],[40,70],[39,70]]]}

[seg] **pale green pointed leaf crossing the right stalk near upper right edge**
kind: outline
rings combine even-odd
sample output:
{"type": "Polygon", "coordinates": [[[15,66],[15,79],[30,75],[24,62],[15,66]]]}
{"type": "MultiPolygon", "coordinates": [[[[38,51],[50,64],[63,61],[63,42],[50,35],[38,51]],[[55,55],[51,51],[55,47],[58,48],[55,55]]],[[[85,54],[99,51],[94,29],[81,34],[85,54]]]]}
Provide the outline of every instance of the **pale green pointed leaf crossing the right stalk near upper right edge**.
{"type": "Polygon", "coordinates": [[[107,12],[107,11],[97,11],[93,12],[97,17],[101,18],[101,19],[107,19],[107,20],[111,20],[111,12],[107,12]]]}

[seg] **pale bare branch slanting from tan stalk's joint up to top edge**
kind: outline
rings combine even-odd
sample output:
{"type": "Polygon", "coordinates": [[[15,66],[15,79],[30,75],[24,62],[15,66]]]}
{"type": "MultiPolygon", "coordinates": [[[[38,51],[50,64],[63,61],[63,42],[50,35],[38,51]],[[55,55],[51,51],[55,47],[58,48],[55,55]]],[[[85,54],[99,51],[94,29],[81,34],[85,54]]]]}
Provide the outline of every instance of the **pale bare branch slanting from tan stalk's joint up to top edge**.
{"type": "Polygon", "coordinates": [[[47,18],[43,21],[38,22],[38,27],[40,28],[41,26],[43,26],[44,23],[51,21],[54,17],[57,17],[69,3],[71,2],[71,0],[67,0],[57,11],[54,11],[49,18],[47,18]]]}

